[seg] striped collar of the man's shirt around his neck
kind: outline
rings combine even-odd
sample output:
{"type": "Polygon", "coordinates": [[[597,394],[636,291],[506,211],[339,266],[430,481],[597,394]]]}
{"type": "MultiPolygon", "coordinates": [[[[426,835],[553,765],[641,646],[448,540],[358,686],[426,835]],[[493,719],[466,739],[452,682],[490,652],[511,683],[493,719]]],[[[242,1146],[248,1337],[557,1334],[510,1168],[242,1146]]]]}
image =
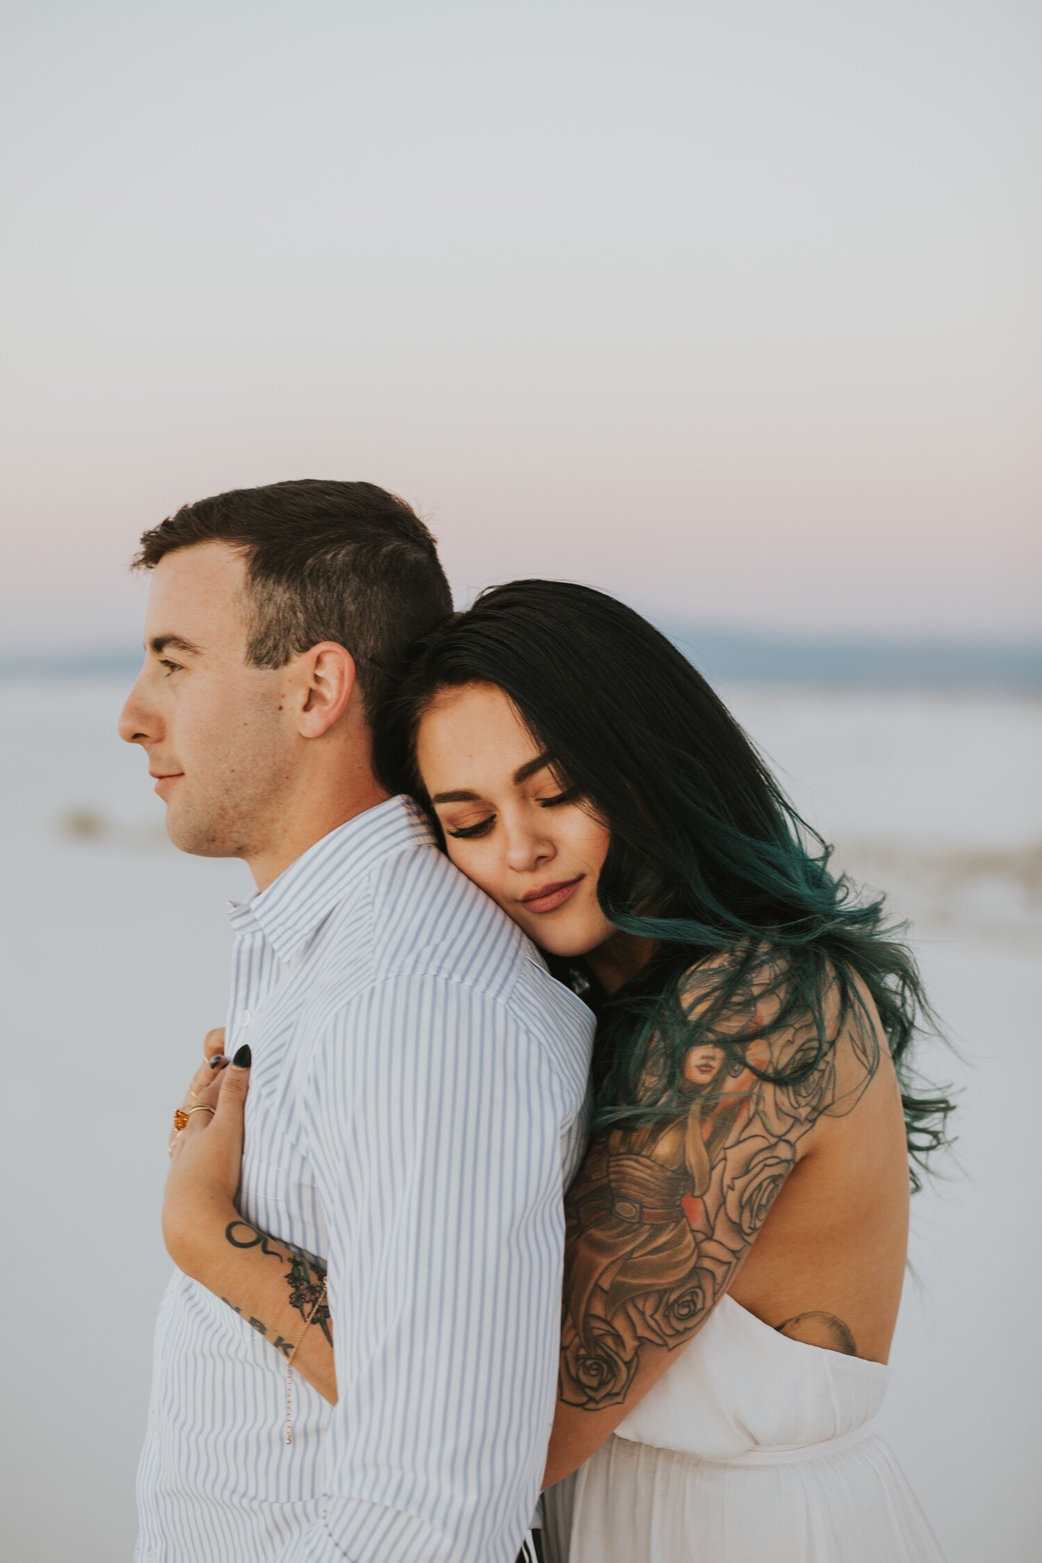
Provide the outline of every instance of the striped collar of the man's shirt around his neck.
{"type": "Polygon", "coordinates": [[[280,961],[289,961],[356,880],[414,846],[434,846],[434,833],[411,799],[391,797],[337,825],[266,889],[233,905],[231,927],[236,933],[259,927],[280,961]]]}

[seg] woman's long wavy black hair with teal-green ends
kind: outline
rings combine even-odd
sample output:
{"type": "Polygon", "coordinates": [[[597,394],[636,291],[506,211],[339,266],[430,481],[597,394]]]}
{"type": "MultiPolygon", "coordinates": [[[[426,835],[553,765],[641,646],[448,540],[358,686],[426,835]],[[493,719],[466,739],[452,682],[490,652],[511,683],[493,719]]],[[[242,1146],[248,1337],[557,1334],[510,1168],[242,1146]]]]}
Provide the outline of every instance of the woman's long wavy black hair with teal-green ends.
{"type": "Polygon", "coordinates": [[[430,808],[417,725],[439,689],[469,683],[503,689],[539,752],[608,822],[600,905],[614,927],[655,941],[651,960],[600,1014],[595,1122],[648,1113],[651,1036],[655,1110],[667,1111],[680,1100],[686,1050],[734,1050],[728,1016],[765,983],[776,997],[770,1027],[809,1022],[815,1038],[784,1077],[767,1075],[798,1086],[862,1007],[859,978],[897,1066],[919,1188],[917,1166],[945,1143],[951,1103],[914,1089],[912,1039],[934,1030],[915,961],[886,924],[883,899],[861,900],[830,871],[831,847],[692,664],[637,613],[589,586],[494,586],[414,647],[375,733],[376,769],[392,791],[430,808]],[[695,966],[712,982],[692,1008],[695,966]]]}

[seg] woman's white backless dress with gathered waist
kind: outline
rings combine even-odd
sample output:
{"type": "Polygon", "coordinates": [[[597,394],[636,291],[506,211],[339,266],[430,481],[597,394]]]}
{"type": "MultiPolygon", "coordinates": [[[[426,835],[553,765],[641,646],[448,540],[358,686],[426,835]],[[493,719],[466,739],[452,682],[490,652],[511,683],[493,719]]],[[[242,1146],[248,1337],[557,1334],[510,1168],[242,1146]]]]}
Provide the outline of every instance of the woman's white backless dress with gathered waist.
{"type": "Polygon", "coordinates": [[[616,1435],[545,1494],[550,1563],[944,1563],[873,1427],[889,1379],[723,1297],[616,1435]]]}

